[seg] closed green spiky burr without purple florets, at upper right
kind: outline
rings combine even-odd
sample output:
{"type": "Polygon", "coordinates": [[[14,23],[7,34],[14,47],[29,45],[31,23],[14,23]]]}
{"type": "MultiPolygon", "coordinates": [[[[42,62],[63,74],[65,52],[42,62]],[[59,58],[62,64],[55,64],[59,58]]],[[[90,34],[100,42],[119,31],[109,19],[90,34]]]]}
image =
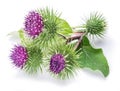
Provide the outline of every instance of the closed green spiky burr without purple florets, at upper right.
{"type": "Polygon", "coordinates": [[[91,13],[86,21],[85,28],[88,34],[102,37],[106,29],[106,21],[102,14],[91,13]]]}

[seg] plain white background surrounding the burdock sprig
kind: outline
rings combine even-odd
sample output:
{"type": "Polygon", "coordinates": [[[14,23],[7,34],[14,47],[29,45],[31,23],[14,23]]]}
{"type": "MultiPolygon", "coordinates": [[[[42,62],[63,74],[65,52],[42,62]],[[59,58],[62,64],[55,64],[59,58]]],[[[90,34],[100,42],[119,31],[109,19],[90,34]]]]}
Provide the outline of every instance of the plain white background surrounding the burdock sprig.
{"type": "Polygon", "coordinates": [[[119,0],[0,0],[0,91],[120,91],[120,2],[119,0]],[[9,60],[13,42],[7,34],[23,27],[30,10],[51,7],[62,12],[71,26],[79,25],[90,12],[102,12],[108,22],[104,40],[95,42],[103,48],[110,74],[81,69],[75,78],[56,80],[48,74],[29,76],[9,60]]]}

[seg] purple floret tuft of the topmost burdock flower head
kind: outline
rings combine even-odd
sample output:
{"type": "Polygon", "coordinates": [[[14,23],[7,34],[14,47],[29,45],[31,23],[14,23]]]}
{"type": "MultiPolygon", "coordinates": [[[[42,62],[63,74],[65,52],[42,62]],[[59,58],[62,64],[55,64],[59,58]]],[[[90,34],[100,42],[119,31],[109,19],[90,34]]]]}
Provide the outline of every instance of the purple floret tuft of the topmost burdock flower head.
{"type": "Polygon", "coordinates": [[[35,11],[29,12],[25,18],[25,31],[35,38],[42,32],[43,26],[42,16],[35,11]]]}

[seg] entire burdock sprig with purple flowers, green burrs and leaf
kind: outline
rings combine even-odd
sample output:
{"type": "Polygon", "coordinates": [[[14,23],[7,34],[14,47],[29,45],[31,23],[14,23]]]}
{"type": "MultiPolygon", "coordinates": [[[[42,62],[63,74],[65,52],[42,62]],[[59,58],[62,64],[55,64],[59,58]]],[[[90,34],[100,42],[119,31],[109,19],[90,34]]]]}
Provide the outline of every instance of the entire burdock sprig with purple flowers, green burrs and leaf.
{"type": "Polygon", "coordinates": [[[15,66],[30,74],[45,68],[53,77],[67,79],[81,68],[90,68],[106,77],[107,59],[101,48],[92,47],[88,37],[101,37],[105,30],[105,18],[99,13],[90,14],[79,27],[70,27],[53,9],[38,9],[26,15],[24,27],[18,31],[21,42],[10,57],[15,66]]]}

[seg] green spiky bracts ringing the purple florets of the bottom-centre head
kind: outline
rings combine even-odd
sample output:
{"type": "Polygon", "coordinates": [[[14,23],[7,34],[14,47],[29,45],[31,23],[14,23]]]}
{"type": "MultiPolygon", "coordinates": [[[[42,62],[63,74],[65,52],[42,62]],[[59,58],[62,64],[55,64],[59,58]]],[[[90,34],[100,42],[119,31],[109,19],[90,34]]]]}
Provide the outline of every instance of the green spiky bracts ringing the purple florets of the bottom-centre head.
{"type": "Polygon", "coordinates": [[[48,70],[51,73],[51,75],[56,78],[60,78],[60,79],[71,78],[76,73],[76,69],[78,67],[78,64],[76,61],[78,58],[78,55],[77,55],[77,52],[73,50],[73,46],[66,45],[64,40],[62,39],[59,39],[59,40],[58,40],[59,42],[54,43],[54,46],[50,47],[50,51],[47,56],[47,61],[48,61],[47,65],[50,64],[50,59],[52,55],[62,54],[65,58],[65,68],[59,74],[55,74],[51,72],[49,67],[48,67],[48,70]]]}

